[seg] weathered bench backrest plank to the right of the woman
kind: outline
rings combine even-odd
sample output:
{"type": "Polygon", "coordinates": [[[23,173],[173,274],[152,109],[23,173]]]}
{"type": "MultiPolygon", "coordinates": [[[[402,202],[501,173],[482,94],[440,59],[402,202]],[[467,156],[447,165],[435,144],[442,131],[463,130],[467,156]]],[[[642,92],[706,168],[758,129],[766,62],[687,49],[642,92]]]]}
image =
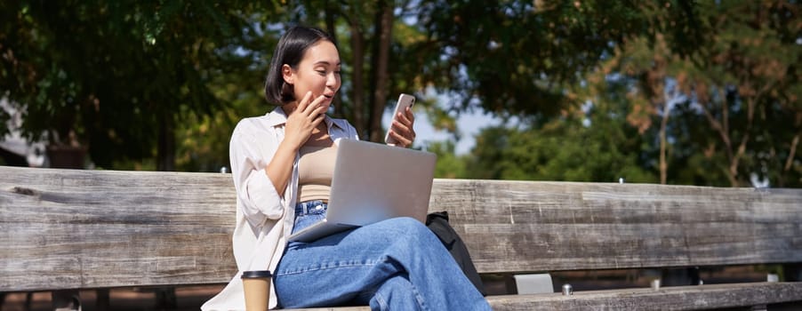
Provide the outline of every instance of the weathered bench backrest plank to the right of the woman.
{"type": "Polygon", "coordinates": [[[802,262],[802,189],[437,179],[483,273],[802,262]]]}

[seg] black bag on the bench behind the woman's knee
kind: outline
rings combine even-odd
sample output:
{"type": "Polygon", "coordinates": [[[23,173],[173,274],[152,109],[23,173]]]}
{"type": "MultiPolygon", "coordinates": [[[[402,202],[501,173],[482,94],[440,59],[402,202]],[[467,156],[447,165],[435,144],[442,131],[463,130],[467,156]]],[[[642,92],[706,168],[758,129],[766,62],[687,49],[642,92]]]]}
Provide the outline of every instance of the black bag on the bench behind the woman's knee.
{"type": "Polygon", "coordinates": [[[482,278],[479,277],[477,267],[474,267],[473,260],[470,259],[468,248],[462,242],[460,235],[454,231],[453,227],[448,224],[448,212],[437,211],[426,215],[426,227],[437,235],[440,242],[443,243],[445,249],[451,253],[454,260],[462,268],[465,276],[468,276],[470,283],[477,287],[477,290],[482,293],[482,296],[487,296],[485,292],[485,285],[482,283],[482,278]]]}

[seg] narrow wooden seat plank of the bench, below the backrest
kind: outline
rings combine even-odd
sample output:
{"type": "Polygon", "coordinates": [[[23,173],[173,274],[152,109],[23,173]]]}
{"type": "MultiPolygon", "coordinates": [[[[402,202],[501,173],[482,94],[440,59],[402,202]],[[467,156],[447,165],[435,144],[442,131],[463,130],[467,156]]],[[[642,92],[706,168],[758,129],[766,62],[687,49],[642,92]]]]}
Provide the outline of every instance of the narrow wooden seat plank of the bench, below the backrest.
{"type": "MultiPolygon", "coordinates": [[[[501,295],[487,297],[495,311],[536,310],[700,310],[750,307],[799,301],[802,283],[734,283],[702,286],[636,288],[606,291],[501,295]]],[[[294,311],[367,311],[370,307],[325,307],[288,309],[294,311]]]]}

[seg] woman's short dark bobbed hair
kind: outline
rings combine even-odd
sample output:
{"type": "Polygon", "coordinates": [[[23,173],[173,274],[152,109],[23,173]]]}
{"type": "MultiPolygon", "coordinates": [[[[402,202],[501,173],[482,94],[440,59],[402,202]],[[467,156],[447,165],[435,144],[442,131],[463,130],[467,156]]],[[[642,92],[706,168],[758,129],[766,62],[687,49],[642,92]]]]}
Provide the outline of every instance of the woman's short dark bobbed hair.
{"type": "Polygon", "coordinates": [[[276,51],[273,52],[273,59],[270,60],[268,77],[265,80],[265,98],[268,102],[284,105],[295,100],[293,85],[285,83],[281,68],[286,64],[297,69],[303,54],[320,40],[329,41],[337,46],[333,37],[319,28],[294,26],[281,36],[276,51]]]}

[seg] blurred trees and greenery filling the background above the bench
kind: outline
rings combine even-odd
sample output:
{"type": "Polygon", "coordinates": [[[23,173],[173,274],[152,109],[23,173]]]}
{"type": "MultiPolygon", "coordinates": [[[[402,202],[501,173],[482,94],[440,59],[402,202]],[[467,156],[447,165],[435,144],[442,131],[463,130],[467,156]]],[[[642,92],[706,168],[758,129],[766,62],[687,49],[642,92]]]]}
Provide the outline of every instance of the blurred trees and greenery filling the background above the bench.
{"type": "MultiPolygon", "coordinates": [[[[83,167],[219,171],[294,24],[338,41],[334,116],[399,92],[437,177],[802,187],[798,1],[0,1],[0,119],[83,167]],[[447,100],[445,100],[447,99],[447,100]],[[465,113],[502,120],[454,151],[465,113]]],[[[0,126],[0,136],[12,128],[0,126]]],[[[6,161],[8,162],[8,161],[6,161]]],[[[55,165],[52,165],[55,166],[55,165]]]]}

